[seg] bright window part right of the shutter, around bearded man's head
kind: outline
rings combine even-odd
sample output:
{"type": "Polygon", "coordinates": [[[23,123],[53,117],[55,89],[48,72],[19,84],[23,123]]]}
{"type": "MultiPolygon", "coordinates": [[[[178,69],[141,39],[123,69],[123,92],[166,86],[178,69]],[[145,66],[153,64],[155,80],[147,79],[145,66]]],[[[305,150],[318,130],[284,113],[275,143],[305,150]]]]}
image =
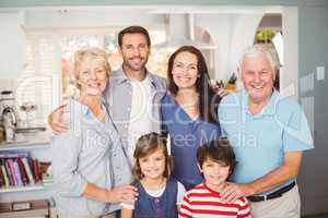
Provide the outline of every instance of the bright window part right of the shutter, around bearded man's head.
{"type": "MultiPolygon", "coordinates": [[[[152,44],[157,44],[165,40],[164,29],[149,31],[152,44]]],[[[101,47],[105,49],[108,55],[108,61],[113,70],[120,68],[122,59],[117,48],[118,29],[108,31],[80,31],[80,34],[72,32],[60,38],[61,45],[61,72],[62,72],[62,97],[67,99],[69,96],[78,95],[74,86],[73,63],[72,58],[77,50],[85,47],[101,47]]],[[[163,51],[156,51],[152,48],[152,53],[149,58],[147,68],[159,75],[165,77],[166,64],[168,55],[163,55],[163,51]],[[160,56],[161,55],[161,56],[160,56]]]]}

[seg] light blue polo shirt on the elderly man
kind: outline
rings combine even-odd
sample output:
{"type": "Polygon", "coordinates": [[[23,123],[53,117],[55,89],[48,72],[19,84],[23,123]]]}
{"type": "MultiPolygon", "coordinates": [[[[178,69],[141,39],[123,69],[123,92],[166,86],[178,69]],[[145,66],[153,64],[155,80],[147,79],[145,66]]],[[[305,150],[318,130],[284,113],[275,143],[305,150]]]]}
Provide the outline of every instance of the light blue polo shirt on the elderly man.
{"type": "Polygon", "coordinates": [[[257,114],[249,112],[245,90],[231,94],[220,104],[219,120],[238,161],[232,177],[237,183],[253,182],[277,169],[288,152],[314,147],[301,107],[278,92],[257,114]]]}

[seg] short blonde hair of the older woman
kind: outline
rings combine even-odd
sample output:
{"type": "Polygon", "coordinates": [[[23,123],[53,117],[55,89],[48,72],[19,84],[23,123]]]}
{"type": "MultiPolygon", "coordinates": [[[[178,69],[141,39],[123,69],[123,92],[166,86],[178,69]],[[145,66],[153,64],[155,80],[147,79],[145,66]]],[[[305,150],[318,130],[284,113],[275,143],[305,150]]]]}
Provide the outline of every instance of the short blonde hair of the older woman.
{"type": "MultiPolygon", "coordinates": [[[[81,63],[85,60],[99,60],[103,62],[103,65],[106,71],[107,77],[109,77],[109,73],[112,71],[110,64],[108,62],[108,55],[105,50],[101,48],[83,48],[78,50],[74,53],[74,78],[79,80],[80,66],[81,63]]],[[[80,89],[80,85],[77,83],[77,87],[80,89]]]]}

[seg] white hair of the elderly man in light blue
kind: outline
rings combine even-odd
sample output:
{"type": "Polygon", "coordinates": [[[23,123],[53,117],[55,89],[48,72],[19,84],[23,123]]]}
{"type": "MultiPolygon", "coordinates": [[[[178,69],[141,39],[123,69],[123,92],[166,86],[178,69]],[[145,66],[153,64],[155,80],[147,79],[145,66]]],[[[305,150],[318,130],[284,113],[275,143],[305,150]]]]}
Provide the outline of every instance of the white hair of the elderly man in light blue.
{"type": "Polygon", "coordinates": [[[242,58],[239,59],[239,69],[242,69],[242,64],[245,58],[258,57],[260,55],[266,56],[271,69],[276,73],[276,71],[280,68],[279,58],[274,47],[267,44],[255,44],[247,47],[241,56],[242,58]]]}

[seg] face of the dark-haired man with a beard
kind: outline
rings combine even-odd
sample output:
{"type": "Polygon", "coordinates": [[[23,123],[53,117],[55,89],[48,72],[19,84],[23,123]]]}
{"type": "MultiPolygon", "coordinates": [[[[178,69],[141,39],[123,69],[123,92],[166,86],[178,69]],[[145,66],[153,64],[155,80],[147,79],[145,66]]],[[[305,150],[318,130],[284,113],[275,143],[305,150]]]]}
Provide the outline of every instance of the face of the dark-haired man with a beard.
{"type": "Polygon", "coordinates": [[[125,34],[119,51],[127,71],[142,71],[145,68],[150,47],[143,34],[125,34]]]}

